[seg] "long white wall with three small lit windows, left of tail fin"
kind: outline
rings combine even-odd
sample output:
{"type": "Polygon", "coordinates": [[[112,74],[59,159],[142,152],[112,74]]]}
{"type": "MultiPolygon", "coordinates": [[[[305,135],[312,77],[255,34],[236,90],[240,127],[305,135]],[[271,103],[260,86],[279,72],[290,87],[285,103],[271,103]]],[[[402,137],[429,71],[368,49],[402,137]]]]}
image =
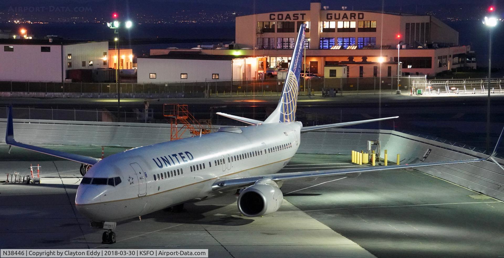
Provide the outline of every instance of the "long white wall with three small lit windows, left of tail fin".
{"type": "Polygon", "coordinates": [[[138,83],[201,82],[211,80],[212,74],[219,74],[219,80],[231,79],[231,60],[194,60],[194,59],[137,59],[138,83]],[[150,74],[156,79],[150,79],[150,74]],[[180,74],[187,74],[187,79],[180,79],[180,74]]]}

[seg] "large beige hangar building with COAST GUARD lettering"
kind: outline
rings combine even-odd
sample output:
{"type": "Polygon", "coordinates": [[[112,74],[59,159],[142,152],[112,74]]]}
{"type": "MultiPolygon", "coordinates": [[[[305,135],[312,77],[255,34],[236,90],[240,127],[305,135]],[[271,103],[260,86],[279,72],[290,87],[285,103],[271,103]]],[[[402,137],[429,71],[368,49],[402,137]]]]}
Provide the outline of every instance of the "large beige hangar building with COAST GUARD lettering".
{"type": "MultiPolygon", "coordinates": [[[[319,76],[325,76],[326,65],[345,64],[348,77],[372,77],[380,57],[384,57],[382,70],[391,70],[382,71],[382,76],[397,76],[399,41],[402,75],[434,76],[460,67],[475,68],[476,60],[468,53],[470,46],[459,45],[459,33],[433,16],[342,9],[329,10],[321,1],[312,0],[309,10],[239,16],[236,44],[201,51],[268,56],[268,68],[285,69],[298,29],[305,23],[306,70],[319,76]]],[[[151,49],[151,55],[169,51],[151,49]]]]}

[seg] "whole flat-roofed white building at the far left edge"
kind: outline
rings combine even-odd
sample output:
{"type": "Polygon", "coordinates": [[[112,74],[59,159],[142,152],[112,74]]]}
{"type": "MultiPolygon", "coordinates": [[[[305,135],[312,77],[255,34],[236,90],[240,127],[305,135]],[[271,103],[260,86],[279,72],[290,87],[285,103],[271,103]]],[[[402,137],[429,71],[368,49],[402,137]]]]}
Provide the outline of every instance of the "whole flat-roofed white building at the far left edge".
{"type": "Polygon", "coordinates": [[[108,68],[107,58],[108,41],[0,39],[0,81],[63,82],[108,68]]]}

